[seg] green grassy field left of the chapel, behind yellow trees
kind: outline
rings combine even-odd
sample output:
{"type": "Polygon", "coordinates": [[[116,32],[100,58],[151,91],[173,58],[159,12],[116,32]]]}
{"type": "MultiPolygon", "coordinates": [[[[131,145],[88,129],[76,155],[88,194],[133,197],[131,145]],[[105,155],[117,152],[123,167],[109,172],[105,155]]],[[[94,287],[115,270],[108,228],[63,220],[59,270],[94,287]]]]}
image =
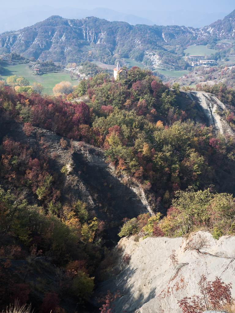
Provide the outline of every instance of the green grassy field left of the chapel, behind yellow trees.
{"type": "Polygon", "coordinates": [[[24,76],[27,80],[29,80],[29,84],[32,85],[34,82],[42,84],[44,87],[43,93],[47,93],[48,95],[52,95],[52,88],[55,87],[56,84],[61,81],[70,81],[70,83],[74,86],[78,84],[78,80],[71,80],[70,74],[67,73],[48,73],[43,75],[32,75],[32,70],[29,68],[27,64],[18,64],[4,67],[4,73],[1,74],[2,78],[6,81],[9,76],[17,75],[24,76]]]}

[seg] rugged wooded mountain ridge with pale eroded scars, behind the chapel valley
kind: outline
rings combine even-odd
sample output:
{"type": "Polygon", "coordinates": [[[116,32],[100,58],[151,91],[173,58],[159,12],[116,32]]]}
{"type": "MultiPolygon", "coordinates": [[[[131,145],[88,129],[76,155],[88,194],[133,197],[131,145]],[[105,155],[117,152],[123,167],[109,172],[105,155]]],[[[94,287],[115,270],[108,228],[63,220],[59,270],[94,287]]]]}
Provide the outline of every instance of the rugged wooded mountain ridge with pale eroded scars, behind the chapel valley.
{"type": "Polygon", "coordinates": [[[51,16],[19,31],[0,34],[0,54],[14,51],[42,61],[79,63],[97,59],[107,64],[114,64],[119,58],[139,62],[144,59],[148,64],[150,57],[157,54],[160,59],[169,59],[174,64],[181,62],[187,45],[234,38],[235,10],[223,20],[199,29],[176,25],[133,26],[95,17],[78,20],[51,16]]]}

